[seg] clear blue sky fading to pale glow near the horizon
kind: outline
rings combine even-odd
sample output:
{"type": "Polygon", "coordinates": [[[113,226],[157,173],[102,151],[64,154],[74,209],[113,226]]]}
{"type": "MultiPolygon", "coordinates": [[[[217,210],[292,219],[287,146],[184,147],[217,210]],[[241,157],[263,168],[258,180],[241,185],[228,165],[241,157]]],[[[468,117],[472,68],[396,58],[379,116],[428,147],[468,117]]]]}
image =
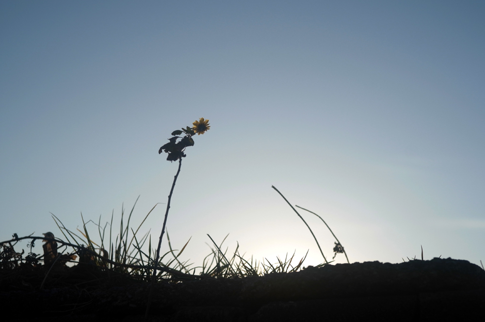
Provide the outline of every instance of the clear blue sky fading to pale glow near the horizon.
{"type": "Polygon", "coordinates": [[[272,185],[351,263],[480,266],[484,55],[483,1],[1,1],[0,239],[62,237],[51,213],[114,234],[139,196],[156,243],[178,168],[158,150],[204,117],[167,221],[193,267],[207,234],[323,262],[272,185]]]}

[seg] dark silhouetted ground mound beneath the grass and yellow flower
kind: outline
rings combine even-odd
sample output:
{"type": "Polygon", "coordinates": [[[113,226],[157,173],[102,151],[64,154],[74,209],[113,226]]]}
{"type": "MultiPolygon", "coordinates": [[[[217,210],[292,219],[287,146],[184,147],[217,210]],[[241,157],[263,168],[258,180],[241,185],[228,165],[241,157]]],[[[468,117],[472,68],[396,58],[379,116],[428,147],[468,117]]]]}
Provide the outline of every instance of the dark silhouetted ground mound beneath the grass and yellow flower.
{"type": "MultiPolygon", "coordinates": [[[[0,271],[3,314],[16,321],[144,321],[148,282],[92,265],[45,276],[43,266],[0,271]]],[[[484,313],[485,271],[434,258],[160,282],[148,321],[480,321],[484,313]]]]}

